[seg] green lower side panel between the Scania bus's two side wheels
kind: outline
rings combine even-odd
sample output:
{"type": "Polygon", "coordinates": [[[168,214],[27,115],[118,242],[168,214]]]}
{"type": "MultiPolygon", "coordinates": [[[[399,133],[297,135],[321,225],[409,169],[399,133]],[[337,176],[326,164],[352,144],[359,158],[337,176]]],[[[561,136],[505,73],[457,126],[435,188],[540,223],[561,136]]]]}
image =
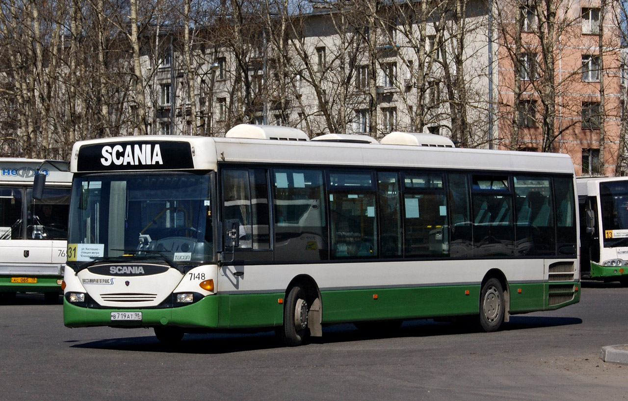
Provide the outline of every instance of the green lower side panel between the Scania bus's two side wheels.
{"type": "Polygon", "coordinates": [[[321,296],[323,323],[428,318],[479,313],[480,286],[323,291],[321,296]]]}

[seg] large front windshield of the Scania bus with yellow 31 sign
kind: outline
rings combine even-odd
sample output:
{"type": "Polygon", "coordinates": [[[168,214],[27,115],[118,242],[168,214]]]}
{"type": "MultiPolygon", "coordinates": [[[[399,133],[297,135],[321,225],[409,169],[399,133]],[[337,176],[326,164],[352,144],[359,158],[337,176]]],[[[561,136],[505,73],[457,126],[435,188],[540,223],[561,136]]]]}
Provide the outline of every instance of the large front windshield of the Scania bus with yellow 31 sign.
{"type": "Polygon", "coordinates": [[[212,260],[209,182],[190,173],[76,177],[68,262],[129,254],[212,260]]]}

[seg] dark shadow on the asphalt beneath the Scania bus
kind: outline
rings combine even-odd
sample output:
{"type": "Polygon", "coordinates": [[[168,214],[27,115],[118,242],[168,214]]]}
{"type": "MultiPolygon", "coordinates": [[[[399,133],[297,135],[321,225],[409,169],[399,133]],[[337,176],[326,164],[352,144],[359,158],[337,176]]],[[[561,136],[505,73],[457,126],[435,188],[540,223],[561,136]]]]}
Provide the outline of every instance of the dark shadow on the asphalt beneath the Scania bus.
{"type": "MultiPolygon", "coordinates": [[[[517,331],[535,328],[552,328],[582,324],[580,318],[550,317],[550,316],[511,316],[509,323],[504,323],[502,332],[517,331]]],[[[347,343],[365,340],[391,340],[395,338],[420,338],[430,336],[450,336],[457,334],[485,335],[474,326],[452,324],[428,320],[413,320],[404,322],[401,328],[387,332],[365,332],[355,328],[353,324],[336,324],[323,329],[323,337],[312,338],[310,345],[324,346],[325,344],[347,343]]],[[[74,341],[66,341],[71,343],[74,341]]],[[[89,343],[73,344],[72,348],[88,348],[117,351],[148,351],[166,353],[189,354],[224,354],[241,351],[267,350],[283,348],[273,331],[254,334],[239,333],[210,333],[186,334],[180,343],[173,345],[162,344],[154,336],[112,338],[109,340],[90,341],[89,343]]],[[[308,345],[305,345],[308,346],[308,345]]]]}

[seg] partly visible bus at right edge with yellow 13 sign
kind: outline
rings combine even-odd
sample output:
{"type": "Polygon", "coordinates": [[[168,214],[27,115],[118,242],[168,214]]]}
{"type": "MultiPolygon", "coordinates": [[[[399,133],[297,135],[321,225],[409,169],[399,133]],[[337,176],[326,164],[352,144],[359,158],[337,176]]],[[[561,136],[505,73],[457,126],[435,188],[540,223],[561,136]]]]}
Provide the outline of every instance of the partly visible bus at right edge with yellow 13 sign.
{"type": "Polygon", "coordinates": [[[580,177],[582,278],[628,286],[628,179],[580,177]]]}

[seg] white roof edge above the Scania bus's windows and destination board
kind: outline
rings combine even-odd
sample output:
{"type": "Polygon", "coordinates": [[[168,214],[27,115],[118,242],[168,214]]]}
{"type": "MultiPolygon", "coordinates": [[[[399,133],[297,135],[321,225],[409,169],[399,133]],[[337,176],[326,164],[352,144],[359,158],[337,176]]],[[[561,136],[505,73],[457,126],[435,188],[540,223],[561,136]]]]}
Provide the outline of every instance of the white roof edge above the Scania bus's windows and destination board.
{"type": "MultiPolygon", "coordinates": [[[[186,141],[193,148],[195,169],[213,170],[218,163],[310,164],[322,166],[376,166],[399,168],[490,169],[536,173],[573,174],[570,156],[556,153],[494,151],[405,145],[374,145],[326,141],[269,141],[198,136],[127,136],[77,142],[72,149],[71,170],[77,152],[87,144],[127,141],[186,141]]],[[[122,168],[123,170],[123,168],[122,168]]]]}

